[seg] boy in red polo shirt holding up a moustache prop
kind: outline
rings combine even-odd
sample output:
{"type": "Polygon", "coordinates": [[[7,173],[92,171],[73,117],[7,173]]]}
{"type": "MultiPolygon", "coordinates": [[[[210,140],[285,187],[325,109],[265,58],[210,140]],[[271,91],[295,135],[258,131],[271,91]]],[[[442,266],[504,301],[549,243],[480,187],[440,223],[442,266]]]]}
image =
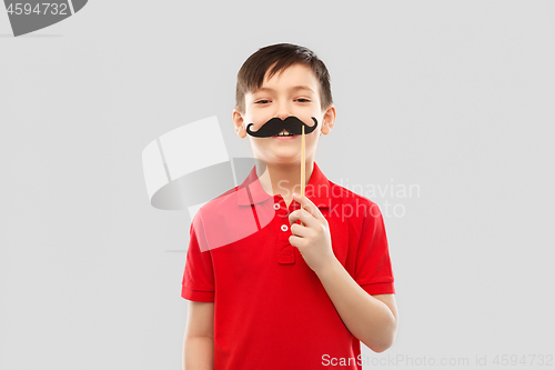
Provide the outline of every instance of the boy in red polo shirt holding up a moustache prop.
{"type": "Polygon", "coordinates": [[[362,369],[360,341],[376,352],[393,343],[382,214],[314,162],[334,121],[330,77],[311,50],[269,46],[242,66],[233,122],[240,138],[250,134],[256,166],[192,222],[181,293],[190,300],[184,369],[362,369]],[[256,229],[222,242],[252,214],[256,229]]]}

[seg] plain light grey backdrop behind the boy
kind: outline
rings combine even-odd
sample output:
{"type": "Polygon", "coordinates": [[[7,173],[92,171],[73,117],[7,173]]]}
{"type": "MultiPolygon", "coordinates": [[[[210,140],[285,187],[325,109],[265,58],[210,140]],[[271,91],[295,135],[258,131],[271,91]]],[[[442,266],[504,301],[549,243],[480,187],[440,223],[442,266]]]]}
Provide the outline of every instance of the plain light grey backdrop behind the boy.
{"type": "MultiPolygon", "coordinates": [[[[252,156],[235,76],[276,42],[331,72],[327,178],[420,187],[369,197],[405,213],[385,218],[397,339],[363,354],[553,356],[553,1],[91,1],[13,38],[1,10],[0,368],[180,369],[189,218],[149,204],[141,152],[216,114],[252,156]]],[[[389,363],[365,369],[406,364],[389,363]]]]}

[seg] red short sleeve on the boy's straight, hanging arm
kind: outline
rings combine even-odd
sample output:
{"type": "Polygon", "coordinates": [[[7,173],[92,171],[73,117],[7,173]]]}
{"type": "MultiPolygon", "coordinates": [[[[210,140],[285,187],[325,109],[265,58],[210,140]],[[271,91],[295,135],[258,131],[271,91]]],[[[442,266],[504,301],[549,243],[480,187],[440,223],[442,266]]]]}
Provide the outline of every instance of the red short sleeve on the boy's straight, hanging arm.
{"type": "Polygon", "coordinates": [[[189,249],[186,251],[185,271],[181,297],[191,301],[214,301],[214,273],[212,256],[205,246],[206,239],[199,210],[191,222],[189,249]],[[203,250],[203,251],[201,251],[203,250]]]}

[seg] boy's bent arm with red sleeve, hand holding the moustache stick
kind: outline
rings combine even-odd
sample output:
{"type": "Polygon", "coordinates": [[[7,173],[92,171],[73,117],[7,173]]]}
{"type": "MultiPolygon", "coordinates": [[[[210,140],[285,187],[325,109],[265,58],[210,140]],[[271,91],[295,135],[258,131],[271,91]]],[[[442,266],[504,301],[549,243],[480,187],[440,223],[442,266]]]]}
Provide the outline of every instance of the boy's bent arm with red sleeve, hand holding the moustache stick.
{"type": "MultiPolygon", "coordinates": [[[[333,252],[330,227],[320,209],[306,196],[294,193],[293,199],[303,209],[289,216],[290,243],[299,248],[306,264],[316,273],[349,331],[373,351],[385,351],[395,340],[397,308],[380,208],[366,199],[353,278],[333,252]],[[304,227],[295,223],[297,220],[304,227]],[[363,286],[369,286],[375,294],[363,286]]],[[[359,212],[359,203],[356,209],[359,212]]]]}

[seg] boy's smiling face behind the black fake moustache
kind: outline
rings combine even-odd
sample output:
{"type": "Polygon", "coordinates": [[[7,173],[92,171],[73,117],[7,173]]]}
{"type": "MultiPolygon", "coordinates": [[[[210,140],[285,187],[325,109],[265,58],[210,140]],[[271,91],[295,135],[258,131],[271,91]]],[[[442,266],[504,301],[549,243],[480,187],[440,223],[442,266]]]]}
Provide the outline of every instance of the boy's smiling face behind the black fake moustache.
{"type": "MultiPolygon", "coordinates": [[[[327,134],[335,121],[333,104],[322,111],[320,106],[320,84],[312,70],[304,64],[293,64],[270,80],[266,77],[258,91],[245,94],[245,111],[233,111],[233,123],[240,138],[246,137],[246,127],[253,123],[252,131],[259,130],[268,120],[279,117],[284,120],[295,116],[307,126],[317,128],[304,136],[306,161],[314,160],[320,133],[327,134]]],[[[249,136],[253,154],[266,164],[301,163],[301,136],[285,140],[275,137],[254,138],[249,136]]]]}

